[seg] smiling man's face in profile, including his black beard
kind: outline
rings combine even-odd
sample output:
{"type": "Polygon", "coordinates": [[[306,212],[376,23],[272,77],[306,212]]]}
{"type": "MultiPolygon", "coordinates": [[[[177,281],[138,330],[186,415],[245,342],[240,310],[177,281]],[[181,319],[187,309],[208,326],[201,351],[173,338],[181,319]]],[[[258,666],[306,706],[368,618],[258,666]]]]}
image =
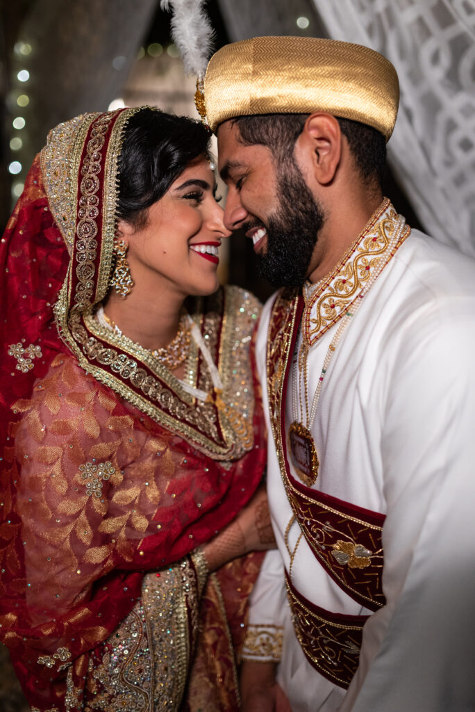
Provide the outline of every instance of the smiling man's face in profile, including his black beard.
{"type": "Polygon", "coordinates": [[[228,186],[225,226],[252,239],[267,281],[300,286],[311,271],[324,216],[294,157],[277,165],[269,147],[244,145],[227,121],[218,129],[218,164],[228,186]]]}

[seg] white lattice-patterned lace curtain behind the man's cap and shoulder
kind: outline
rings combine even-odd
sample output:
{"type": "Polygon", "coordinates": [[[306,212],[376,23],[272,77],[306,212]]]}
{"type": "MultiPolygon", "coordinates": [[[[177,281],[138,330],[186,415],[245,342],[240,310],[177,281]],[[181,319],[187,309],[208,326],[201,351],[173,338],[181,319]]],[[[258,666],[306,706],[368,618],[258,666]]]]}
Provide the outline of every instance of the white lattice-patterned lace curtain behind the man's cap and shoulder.
{"type": "Polygon", "coordinates": [[[475,256],[475,0],[312,0],[333,39],[393,62],[388,158],[429,234],[475,256]]]}

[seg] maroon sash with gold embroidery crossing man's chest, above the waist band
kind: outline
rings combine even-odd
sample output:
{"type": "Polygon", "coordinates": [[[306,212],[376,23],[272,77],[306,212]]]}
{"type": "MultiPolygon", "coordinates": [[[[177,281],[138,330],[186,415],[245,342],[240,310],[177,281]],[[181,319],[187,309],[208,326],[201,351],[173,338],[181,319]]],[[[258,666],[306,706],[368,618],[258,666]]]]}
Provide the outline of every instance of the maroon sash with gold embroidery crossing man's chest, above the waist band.
{"type": "Polygon", "coordinates": [[[306,487],[289,467],[284,394],[303,307],[301,296],[282,291],[269,323],[269,409],[280,470],[295,518],[316,559],[353,600],[377,610],[385,603],[381,586],[384,516],[306,487]]]}

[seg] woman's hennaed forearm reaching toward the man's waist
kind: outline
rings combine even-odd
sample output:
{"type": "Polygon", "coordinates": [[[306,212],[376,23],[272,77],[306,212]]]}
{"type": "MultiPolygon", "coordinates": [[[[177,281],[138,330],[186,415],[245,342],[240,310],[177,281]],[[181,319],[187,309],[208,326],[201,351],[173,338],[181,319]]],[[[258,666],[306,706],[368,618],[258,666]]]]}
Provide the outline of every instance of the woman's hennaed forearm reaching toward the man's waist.
{"type": "Polygon", "coordinates": [[[274,533],[270,523],[265,488],[261,486],[237,517],[203,547],[208,570],[250,551],[272,549],[274,533]]]}

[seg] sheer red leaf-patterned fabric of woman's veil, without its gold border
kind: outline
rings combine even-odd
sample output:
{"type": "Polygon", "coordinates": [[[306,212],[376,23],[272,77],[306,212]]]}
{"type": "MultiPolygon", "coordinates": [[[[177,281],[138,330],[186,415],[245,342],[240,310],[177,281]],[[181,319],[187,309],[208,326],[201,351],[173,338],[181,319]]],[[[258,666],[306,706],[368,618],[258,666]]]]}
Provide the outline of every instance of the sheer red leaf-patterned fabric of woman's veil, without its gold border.
{"type": "Polygon", "coordinates": [[[37,157],[0,245],[0,639],[41,709],[64,701],[58,649],[69,664],[104,641],[144,572],[232,520],[265,460],[260,407],[254,447],[223,464],[78,366],[53,315],[69,263],[37,157]]]}

